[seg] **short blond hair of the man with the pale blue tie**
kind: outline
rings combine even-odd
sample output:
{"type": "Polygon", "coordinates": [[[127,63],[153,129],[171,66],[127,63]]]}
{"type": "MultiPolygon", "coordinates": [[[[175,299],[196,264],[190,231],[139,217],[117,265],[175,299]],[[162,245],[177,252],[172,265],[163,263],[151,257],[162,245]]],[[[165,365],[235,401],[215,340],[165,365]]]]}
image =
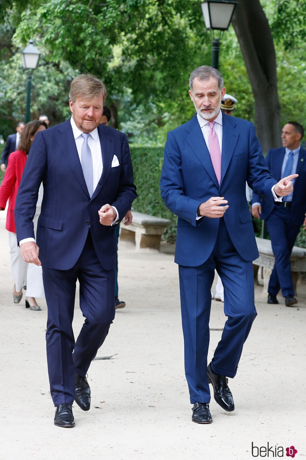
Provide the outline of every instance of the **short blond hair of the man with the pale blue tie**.
{"type": "Polygon", "coordinates": [[[103,102],[106,100],[107,91],[105,84],[95,75],[80,74],[72,80],[69,91],[69,99],[75,102],[77,98],[86,101],[96,100],[103,96],[103,102]]]}

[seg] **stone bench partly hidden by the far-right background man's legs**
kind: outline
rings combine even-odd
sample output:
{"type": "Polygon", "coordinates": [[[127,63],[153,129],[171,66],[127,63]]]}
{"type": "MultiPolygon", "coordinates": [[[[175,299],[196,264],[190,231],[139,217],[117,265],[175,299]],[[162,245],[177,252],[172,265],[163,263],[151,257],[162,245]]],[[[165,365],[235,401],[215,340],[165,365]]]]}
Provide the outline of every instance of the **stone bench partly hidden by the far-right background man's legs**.
{"type": "MultiPolygon", "coordinates": [[[[259,257],[253,261],[254,266],[259,266],[257,279],[259,284],[263,285],[262,294],[267,295],[269,279],[274,267],[275,257],[272,251],[271,241],[264,238],[256,237],[259,257]]],[[[299,272],[306,271],[306,249],[294,246],[291,257],[291,275],[293,287],[296,293],[296,284],[299,277],[299,272]]]]}

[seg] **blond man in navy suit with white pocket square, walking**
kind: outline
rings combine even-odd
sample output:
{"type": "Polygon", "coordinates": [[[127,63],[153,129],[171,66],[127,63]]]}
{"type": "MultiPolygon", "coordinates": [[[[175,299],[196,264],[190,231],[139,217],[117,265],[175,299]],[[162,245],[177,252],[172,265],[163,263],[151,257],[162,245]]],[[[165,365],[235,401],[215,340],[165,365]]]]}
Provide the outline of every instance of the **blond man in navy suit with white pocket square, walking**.
{"type": "Polygon", "coordinates": [[[22,258],[43,267],[54,423],[64,427],[74,426],[74,400],[90,407],[86,374],[115,316],[115,228],[137,196],[126,135],[99,124],[106,95],[93,75],[72,81],[72,117],[35,137],[15,206],[22,258]],[[41,182],[36,244],[32,219],[41,182]],[[77,279],[85,321],[74,341],[77,279]]]}

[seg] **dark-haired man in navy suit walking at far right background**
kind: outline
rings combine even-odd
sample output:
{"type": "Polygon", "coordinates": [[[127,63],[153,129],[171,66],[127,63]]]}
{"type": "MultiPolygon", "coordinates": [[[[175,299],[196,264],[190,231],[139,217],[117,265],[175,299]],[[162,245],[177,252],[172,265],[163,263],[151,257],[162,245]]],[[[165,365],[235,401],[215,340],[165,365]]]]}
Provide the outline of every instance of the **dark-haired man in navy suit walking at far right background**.
{"type": "Polygon", "coordinates": [[[288,174],[299,175],[292,180],[293,193],[284,197],[280,207],[270,205],[258,194],[253,194],[252,199],[252,214],[266,221],[275,256],[267,303],[278,304],[276,296],[281,289],[287,307],[297,303],[290,271],[290,254],[303,221],[306,225],[306,150],[300,146],[303,136],[304,129],[300,123],[289,121],[282,132],[283,147],[269,150],[266,157],[271,174],[277,180],[288,174]]]}

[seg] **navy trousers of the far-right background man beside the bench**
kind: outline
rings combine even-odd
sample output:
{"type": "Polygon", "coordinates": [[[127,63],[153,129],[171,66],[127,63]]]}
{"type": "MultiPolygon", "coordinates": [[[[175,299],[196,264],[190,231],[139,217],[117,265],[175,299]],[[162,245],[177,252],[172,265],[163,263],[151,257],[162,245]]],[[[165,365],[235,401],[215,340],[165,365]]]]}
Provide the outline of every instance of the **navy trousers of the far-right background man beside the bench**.
{"type": "Polygon", "coordinates": [[[300,226],[293,225],[290,220],[289,208],[276,207],[265,221],[271,236],[275,257],[268,293],[277,295],[279,289],[282,289],[283,297],[295,294],[291,276],[290,255],[300,231],[300,226]]]}

